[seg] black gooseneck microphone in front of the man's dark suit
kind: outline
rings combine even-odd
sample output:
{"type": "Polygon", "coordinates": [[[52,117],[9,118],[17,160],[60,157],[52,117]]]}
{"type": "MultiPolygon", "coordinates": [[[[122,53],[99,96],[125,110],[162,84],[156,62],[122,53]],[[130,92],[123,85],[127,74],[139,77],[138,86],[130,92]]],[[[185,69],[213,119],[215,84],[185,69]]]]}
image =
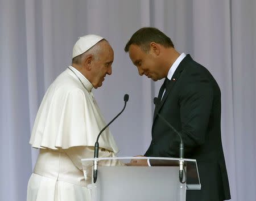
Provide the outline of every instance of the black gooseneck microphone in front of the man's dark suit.
{"type": "MultiPolygon", "coordinates": [[[[160,101],[158,100],[158,98],[154,97],[155,106],[158,106],[159,102],[160,101]]],[[[184,144],[183,144],[183,140],[181,138],[181,135],[178,131],[176,131],[176,129],[168,121],[166,121],[166,119],[164,117],[162,117],[159,113],[157,113],[157,115],[158,115],[158,117],[160,117],[162,119],[162,121],[164,123],[166,123],[180,137],[179,179],[180,179],[180,183],[185,183],[186,179],[185,179],[184,182],[182,181],[183,180],[183,172],[184,172],[184,160],[183,160],[183,158],[184,158],[184,144]]]]}

